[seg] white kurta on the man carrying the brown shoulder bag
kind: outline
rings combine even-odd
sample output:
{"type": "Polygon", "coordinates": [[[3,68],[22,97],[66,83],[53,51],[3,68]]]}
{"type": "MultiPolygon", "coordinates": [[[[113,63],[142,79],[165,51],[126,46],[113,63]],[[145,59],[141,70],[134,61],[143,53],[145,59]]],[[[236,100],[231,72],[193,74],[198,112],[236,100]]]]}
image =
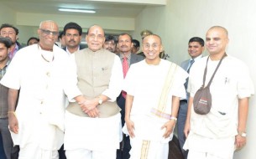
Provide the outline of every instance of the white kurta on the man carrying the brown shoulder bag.
{"type": "MultiPolygon", "coordinates": [[[[191,68],[188,91],[192,97],[202,85],[206,59],[198,60],[191,68]]],[[[209,59],[206,85],[218,62],[209,59]]],[[[230,158],[234,136],[238,134],[238,99],[250,97],[254,91],[248,67],[241,60],[227,55],[212,80],[210,91],[212,109],[207,115],[198,115],[191,108],[191,131],[184,148],[230,158]]]]}

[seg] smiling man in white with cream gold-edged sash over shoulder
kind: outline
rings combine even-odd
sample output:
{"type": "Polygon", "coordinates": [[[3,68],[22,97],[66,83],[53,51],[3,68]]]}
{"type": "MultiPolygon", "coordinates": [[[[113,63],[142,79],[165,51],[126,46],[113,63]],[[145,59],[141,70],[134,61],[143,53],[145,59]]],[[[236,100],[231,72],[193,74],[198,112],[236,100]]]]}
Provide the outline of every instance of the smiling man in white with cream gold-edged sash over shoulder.
{"type": "Polygon", "coordinates": [[[125,78],[123,132],[131,137],[132,159],[168,158],[180,98],[185,99],[188,74],[177,64],[160,59],[162,49],[158,35],[146,36],[143,40],[146,59],[131,65],[125,78]]]}

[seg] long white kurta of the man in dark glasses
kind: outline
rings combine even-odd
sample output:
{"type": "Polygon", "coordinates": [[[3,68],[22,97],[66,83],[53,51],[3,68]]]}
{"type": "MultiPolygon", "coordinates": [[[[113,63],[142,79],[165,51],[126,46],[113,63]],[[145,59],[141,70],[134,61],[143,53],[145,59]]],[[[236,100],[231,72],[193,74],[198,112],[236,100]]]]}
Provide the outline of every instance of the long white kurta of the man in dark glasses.
{"type": "Polygon", "coordinates": [[[19,130],[12,133],[15,145],[38,142],[41,148],[58,150],[63,143],[65,94],[70,98],[81,95],[65,51],[54,46],[53,61],[46,62],[42,55],[49,54],[37,44],[20,49],[1,80],[8,88],[20,89],[19,130]]]}

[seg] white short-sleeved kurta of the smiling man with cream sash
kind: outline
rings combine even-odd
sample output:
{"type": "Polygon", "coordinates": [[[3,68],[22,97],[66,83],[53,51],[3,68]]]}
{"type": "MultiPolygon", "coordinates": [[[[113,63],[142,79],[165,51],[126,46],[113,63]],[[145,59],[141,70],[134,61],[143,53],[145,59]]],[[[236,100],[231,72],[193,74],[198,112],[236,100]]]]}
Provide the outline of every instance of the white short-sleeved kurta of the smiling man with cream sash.
{"type": "MultiPolygon", "coordinates": [[[[152,108],[157,108],[159,105],[163,88],[168,86],[165,85],[165,79],[170,64],[170,61],[164,59],[161,59],[159,65],[150,65],[143,60],[132,64],[128,70],[123,90],[128,95],[133,95],[130,119],[134,122],[134,135],[142,140],[168,143],[172,139],[172,135],[170,138],[164,139],[165,130],[161,130],[161,126],[169,120],[159,118],[151,113],[152,108]]],[[[173,95],[185,99],[184,83],[186,77],[185,70],[177,66],[177,70],[173,74],[173,85],[168,92],[165,112],[171,113],[173,95]]],[[[123,132],[128,134],[126,125],[123,127],[123,132]]]]}

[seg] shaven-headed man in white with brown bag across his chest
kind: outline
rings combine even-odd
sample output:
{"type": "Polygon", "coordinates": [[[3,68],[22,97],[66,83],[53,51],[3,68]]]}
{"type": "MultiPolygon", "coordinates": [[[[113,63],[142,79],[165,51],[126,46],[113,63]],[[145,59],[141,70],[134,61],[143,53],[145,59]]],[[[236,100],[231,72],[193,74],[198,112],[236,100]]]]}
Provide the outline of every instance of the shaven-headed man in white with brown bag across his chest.
{"type": "Polygon", "coordinates": [[[246,144],[248,99],[254,93],[253,82],[248,67],[226,54],[228,40],[226,28],[210,28],[206,33],[209,56],[196,61],[191,68],[188,85],[191,96],[184,130],[188,159],[232,159],[234,150],[246,144]],[[196,114],[194,95],[203,83],[205,68],[207,85],[221,59],[210,86],[212,109],[206,115],[196,114]]]}

